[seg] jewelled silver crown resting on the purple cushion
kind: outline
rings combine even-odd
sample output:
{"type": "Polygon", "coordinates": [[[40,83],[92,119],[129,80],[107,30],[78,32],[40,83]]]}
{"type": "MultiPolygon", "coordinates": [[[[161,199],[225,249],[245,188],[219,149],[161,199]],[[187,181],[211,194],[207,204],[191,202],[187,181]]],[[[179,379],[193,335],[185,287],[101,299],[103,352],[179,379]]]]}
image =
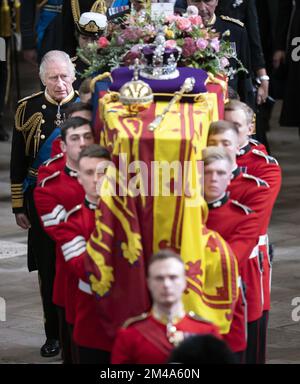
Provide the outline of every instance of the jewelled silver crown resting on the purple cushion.
{"type": "Polygon", "coordinates": [[[140,75],[146,79],[170,80],[179,76],[177,62],[181,48],[166,46],[163,32],[159,32],[154,43],[144,45],[142,52],[142,69],[140,75]]]}

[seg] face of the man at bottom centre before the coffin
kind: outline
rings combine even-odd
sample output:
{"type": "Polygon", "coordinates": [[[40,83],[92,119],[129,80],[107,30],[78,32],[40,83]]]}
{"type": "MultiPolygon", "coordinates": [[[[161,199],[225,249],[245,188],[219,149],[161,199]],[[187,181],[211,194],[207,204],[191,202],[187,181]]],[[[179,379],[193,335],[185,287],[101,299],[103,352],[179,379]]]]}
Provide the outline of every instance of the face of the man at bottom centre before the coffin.
{"type": "Polygon", "coordinates": [[[179,303],[186,287],[184,265],[174,258],[155,261],[149,268],[148,287],[154,303],[165,307],[179,303]]]}

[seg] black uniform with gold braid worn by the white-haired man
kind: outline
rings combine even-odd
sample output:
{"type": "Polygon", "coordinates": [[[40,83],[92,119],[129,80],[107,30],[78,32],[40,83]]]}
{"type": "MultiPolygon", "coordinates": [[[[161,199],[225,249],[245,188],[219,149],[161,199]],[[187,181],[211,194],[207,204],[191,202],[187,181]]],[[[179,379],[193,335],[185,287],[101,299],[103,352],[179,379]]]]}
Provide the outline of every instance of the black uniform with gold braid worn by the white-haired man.
{"type": "Polygon", "coordinates": [[[45,332],[48,339],[58,339],[56,309],[52,303],[55,275],[55,243],[43,231],[36,213],[33,190],[37,175],[37,156],[56,126],[61,124],[67,106],[74,102],[74,91],[61,103],[46,98],[39,92],[18,103],[11,151],[11,190],[14,213],[26,213],[31,228],[28,232],[28,269],[38,270],[45,317],[45,332]],[[26,189],[24,191],[23,189],[26,189]]]}

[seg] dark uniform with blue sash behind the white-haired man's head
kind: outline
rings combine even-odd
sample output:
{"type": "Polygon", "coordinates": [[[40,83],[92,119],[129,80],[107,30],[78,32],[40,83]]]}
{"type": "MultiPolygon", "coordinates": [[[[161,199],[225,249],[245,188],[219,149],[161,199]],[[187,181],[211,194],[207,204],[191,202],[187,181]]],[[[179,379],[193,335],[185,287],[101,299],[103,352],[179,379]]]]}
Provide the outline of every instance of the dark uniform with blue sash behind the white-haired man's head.
{"type": "Polygon", "coordinates": [[[38,60],[53,49],[62,49],[63,0],[23,0],[21,6],[22,49],[37,49],[38,60]],[[39,17],[35,21],[37,8],[39,17]],[[37,38],[38,37],[38,38],[37,38]]]}

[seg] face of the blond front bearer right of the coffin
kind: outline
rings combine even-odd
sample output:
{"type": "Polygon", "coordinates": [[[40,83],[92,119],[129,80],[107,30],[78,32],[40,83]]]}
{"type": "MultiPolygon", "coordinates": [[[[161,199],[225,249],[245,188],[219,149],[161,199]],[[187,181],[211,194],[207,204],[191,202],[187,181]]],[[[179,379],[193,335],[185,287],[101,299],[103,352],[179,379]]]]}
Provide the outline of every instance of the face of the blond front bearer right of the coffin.
{"type": "Polygon", "coordinates": [[[208,203],[224,194],[230,177],[231,166],[227,160],[216,160],[204,167],[204,197],[208,203]]]}

